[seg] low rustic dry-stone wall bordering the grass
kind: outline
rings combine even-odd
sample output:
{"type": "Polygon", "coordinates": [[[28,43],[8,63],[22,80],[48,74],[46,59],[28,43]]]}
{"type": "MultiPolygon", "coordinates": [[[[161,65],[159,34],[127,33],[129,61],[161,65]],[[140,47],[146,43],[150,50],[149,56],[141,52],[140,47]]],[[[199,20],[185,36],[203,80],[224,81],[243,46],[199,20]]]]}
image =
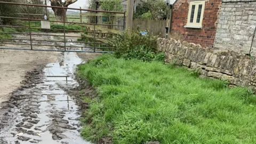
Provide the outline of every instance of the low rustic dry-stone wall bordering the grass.
{"type": "Polygon", "coordinates": [[[228,79],[231,85],[256,90],[256,61],[234,51],[213,51],[201,45],[158,38],[158,50],[165,52],[165,62],[198,69],[202,76],[228,79]]]}

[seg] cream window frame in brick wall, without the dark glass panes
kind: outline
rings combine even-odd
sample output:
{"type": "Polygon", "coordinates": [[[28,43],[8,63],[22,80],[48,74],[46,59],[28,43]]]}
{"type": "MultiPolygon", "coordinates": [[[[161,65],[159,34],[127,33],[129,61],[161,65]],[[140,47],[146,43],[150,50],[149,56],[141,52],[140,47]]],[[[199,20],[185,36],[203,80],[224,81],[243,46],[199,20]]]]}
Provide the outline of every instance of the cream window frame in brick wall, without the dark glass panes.
{"type": "Polygon", "coordinates": [[[205,6],[205,1],[193,1],[193,2],[189,3],[188,21],[187,21],[187,25],[184,26],[185,28],[202,28],[202,21],[203,21],[203,17],[204,17],[204,6],[205,6]],[[201,4],[202,4],[201,17],[200,17],[200,21],[198,23],[196,21],[197,14],[198,14],[198,7],[201,4]],[[193,22],[190,22],[191,11],[192,11],[193,5],[195,5],[194,17],[193,17],[193,22]]]}

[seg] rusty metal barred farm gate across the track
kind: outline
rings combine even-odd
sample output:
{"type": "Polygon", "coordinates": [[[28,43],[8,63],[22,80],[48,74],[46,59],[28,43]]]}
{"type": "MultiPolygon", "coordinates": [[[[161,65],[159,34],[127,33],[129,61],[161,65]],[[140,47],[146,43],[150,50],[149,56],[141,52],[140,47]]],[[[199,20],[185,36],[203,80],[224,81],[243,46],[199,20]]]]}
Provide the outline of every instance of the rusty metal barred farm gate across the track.
{"type": "Polygon", "coordinates": [[[0,24],[0,35],[14,35],[14,38],[6,38],[0,36],[0,49],[108,53],[113,52],[115,48],[109,47],[109,43],[107,40],[113,39],[115,35],[119,33],[119,30],[125,29],[125,12],[86,10],[59,6],[21,4],[11,2],[0,2],[0,4],[18,5],[26,7],[44,7],[44,9],[50,7],[55,9],[63,9],[63,13],[65,14],[67,10],[76,10],[78,11],[77,13],[79,13],[77,18],[74,18],[73,15],[65,15],[63,21],[54,20],[52,19],[53,17],[49,17],[49,15],[47,15],[48,19],[45,20],[44,14],[17,13],[14,14],[13,17],[5,17],[3,15],[0,15],[0,19],[12,19],[16,21],[15,23],[12,23],[10,25],[0,24]],[[118,17],[118,19],[122,21],[122,25],[116,25],[116,22],[113,22],[113,24],[103,22],[90,23],[86,20],[83,20],[83,18],[88,18],[90,16],[97,17],[98,19],[99,17],[105,17],[105,15],[108,15],[108,17],[109,15],[110,17],[115,17],[115,20],[118,17]],[[71,19],[71,21],[69,20],[69,18],[71,19]],[[74,21],[74,19],[78,19],[78,21],[74,21]],[[44,28],[44,25],[49,26],[48,28],[44,28]],[[58,25],[61,26],[61,28],[52,28],[50,25],[58,25]],[[78,27],[79,29],[68,29],[68,27],[78,27]],[[18,30],[10,31],[5,30],[6,28],[18,30]],[[69,35],[70,33],[76,35],[69,35]],[[17,36],[19,37],[17,38],[17,36]],[[80,39],[80,41],[76,40],[78,38],[80,39]]]}

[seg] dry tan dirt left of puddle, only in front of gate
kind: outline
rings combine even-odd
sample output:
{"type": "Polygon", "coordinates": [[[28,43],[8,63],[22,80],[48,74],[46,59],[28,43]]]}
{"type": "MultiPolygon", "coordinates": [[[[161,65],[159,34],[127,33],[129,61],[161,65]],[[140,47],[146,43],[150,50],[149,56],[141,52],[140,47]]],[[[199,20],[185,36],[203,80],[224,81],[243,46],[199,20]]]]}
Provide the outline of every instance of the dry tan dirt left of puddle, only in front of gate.
{"type": "MultiPolygon", "coordinates": [[[[55,62],[59,52],[0,50],[0,103],[21,86],[26,71],[55,62]]],[[[1,105],[0,105],[1,107],[1,105]]]]}

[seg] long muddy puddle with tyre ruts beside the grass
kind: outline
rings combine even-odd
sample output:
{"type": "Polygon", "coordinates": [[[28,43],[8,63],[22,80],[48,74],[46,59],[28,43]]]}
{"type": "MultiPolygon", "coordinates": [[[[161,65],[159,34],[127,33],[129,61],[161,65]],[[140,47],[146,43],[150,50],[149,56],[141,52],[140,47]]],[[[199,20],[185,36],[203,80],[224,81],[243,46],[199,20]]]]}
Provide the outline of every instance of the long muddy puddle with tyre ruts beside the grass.
{"type": "Polygon", "coordinates": [[[29,85],[14,92],[8,103],[0,143],[89,143],[79,136],[78,106],[65,91],[78,86],[74,71],[80,63],[75,53],[66,52],[59,62],[35,70],[25,82],[29,85]]]}

